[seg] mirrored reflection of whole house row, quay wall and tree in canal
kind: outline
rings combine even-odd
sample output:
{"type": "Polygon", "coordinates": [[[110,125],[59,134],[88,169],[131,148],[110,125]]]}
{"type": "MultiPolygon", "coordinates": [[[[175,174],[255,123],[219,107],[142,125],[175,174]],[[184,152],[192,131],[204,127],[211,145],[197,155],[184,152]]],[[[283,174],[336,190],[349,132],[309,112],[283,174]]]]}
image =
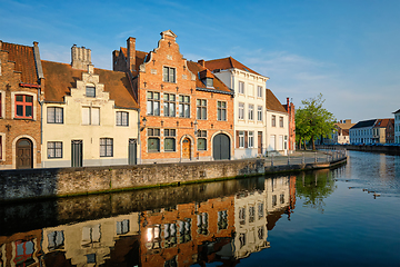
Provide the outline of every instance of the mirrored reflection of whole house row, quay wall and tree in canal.
{"type": "Polygon", "coordinates": [[[290,219],[296,194],[304,205],[320,208],[333,190],[327,174],[298,181],[294,176],[260,177],[4,207],[4,221],[14,225],[1,229],[0,267],[234,266],[271,246],[268,231],[283,215],[290,219]],[[51,215],[42,210],[48,207],[51,215]],[[34,210],[43,219],[33,216],[34,210]],[[41,227],[27,229],[29,225],[41,227]],[[17,228],[27,231],[10,234],[17,228]]]}

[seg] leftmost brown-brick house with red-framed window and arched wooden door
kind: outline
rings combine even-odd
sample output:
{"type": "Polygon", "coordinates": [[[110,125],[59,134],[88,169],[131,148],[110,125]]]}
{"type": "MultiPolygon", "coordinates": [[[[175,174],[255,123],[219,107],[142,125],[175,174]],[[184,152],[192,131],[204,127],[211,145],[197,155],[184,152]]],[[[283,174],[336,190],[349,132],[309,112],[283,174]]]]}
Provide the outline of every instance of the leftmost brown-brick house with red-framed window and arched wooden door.
{"type": "Polygon", "coordinates": [[[0,41],[0,168],[41,166],[39,47],[0,41]]]}

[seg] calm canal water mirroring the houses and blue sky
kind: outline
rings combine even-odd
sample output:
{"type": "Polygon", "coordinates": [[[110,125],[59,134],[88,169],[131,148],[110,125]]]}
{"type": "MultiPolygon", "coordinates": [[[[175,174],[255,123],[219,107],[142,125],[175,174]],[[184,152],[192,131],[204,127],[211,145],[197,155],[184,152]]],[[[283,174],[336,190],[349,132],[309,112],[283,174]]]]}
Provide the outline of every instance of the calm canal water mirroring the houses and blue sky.
{"type": "Polygon", "coordinates": [[[6,266],[399,266],[400,157],[0,207],[6,266]]]}

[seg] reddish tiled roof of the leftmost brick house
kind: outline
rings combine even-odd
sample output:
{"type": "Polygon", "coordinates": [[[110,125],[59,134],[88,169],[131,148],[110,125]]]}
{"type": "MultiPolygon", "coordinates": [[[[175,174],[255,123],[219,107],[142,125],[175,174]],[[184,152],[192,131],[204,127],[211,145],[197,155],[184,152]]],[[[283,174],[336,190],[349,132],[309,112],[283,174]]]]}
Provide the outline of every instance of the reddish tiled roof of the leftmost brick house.
{"type": "Polygon", "coordinates": [[[33,47],[1,42],[1,50],[8,51],[8,60],[16,62],[16,71],[21,72],[21,82],[38,85],[33,47]]]}

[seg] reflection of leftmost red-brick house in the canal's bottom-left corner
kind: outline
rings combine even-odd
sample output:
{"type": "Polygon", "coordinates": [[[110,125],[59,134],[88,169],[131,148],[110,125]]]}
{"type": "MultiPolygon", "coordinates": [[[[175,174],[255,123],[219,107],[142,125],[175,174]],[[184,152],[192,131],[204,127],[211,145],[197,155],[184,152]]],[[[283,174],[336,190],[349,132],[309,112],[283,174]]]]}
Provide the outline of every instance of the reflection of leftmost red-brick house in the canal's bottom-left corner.
{"type": "Polygon", "coordinates": [[[41,229],[0,236],[0,266],[40,266],[41,229]]]}

